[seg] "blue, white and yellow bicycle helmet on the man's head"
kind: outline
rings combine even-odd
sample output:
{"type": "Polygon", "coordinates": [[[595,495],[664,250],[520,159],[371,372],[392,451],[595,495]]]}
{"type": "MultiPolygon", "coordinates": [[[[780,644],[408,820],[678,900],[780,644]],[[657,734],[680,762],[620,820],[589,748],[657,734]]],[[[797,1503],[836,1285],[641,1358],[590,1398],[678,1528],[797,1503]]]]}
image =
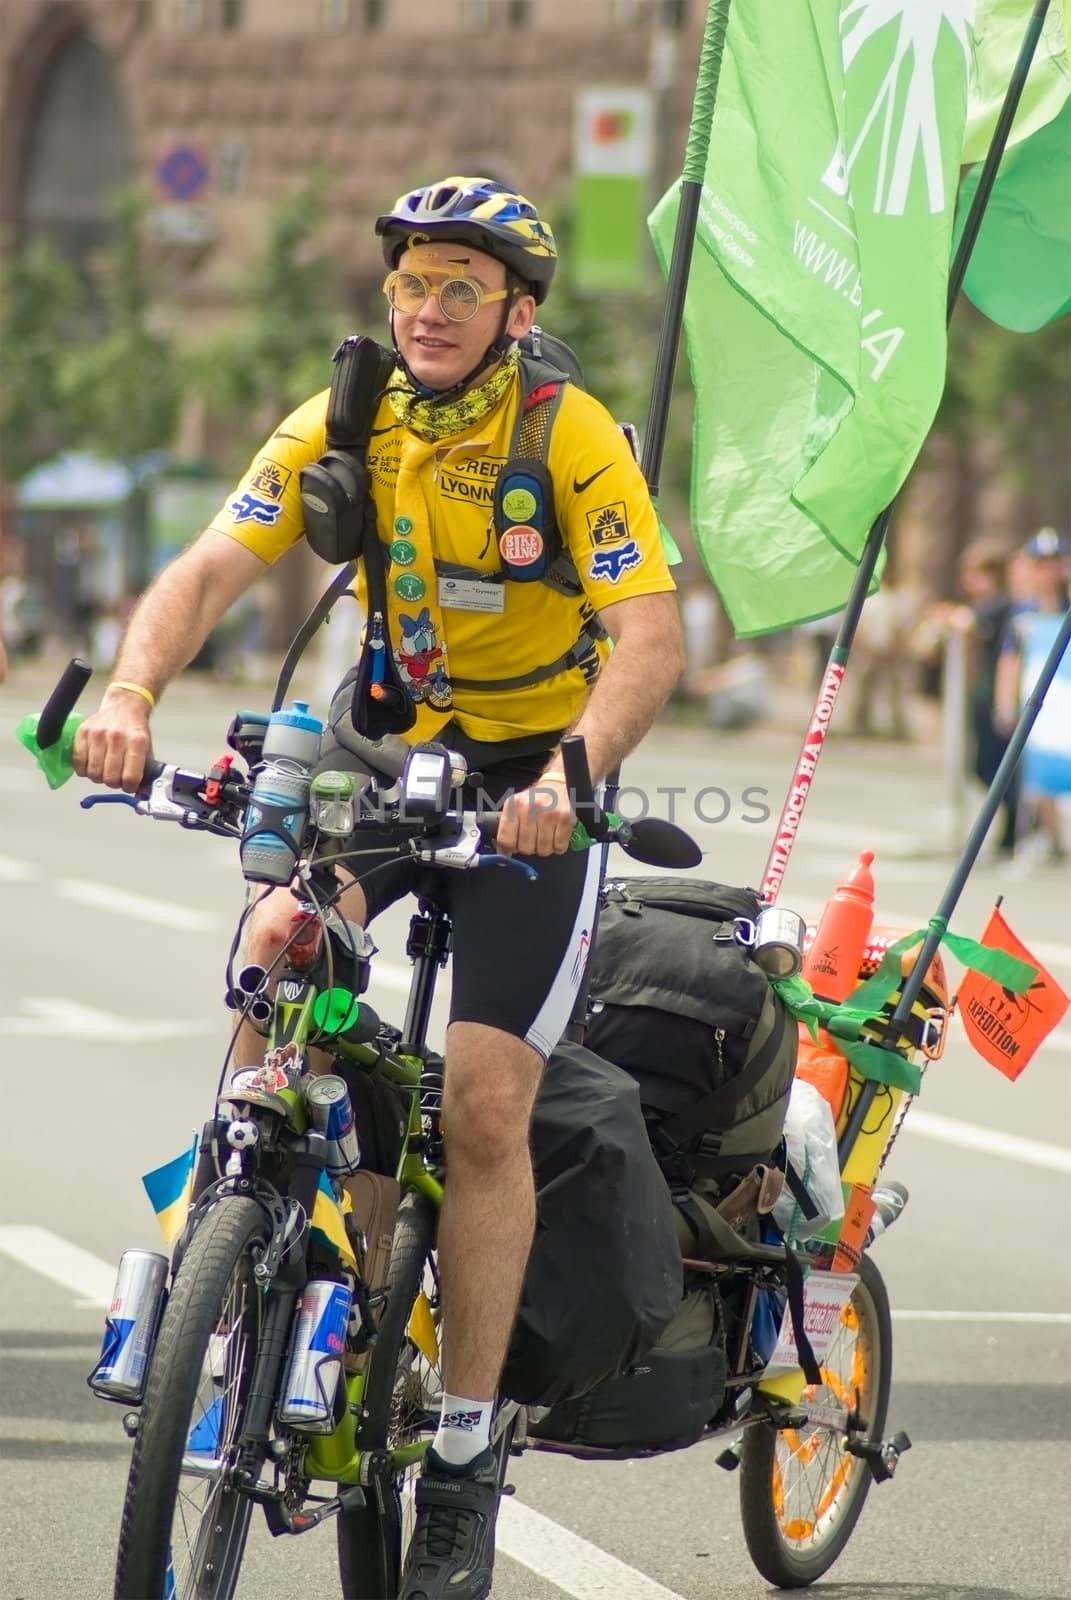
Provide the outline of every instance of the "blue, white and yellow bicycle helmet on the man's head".
{"type": "Polygon", "coordinates": [[[523,278],[538,306],[557,267],[554,234],[536,208],[491,178],[443,178],[411,189],[376,218],[376,234],[389,267],[399,264],[413,235],[474,245],[523,278]]]}

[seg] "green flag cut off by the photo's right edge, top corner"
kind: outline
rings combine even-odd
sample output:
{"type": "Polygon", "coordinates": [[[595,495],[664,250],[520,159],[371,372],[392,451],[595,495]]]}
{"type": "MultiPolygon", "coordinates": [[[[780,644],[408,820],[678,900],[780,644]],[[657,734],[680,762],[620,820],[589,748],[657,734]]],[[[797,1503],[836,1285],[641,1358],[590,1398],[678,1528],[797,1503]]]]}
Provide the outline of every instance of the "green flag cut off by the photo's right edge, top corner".
{"type": "MultiPolygon", "coordinates": [[[[1023,0],[983,0],[970,85],[967,160],[985,155],[972,139],[996,120],[996,106],[1023,42],[1023,0]],[[1009,21],[1007,13],[1018,13],[1009,21]]],[[[1052,5],[1031,64],[1013,149],[986,205],[964,291],[978,310],[1015,333],[1036,333],[1071,310],[1071,62],[1065,10],[1052,5]]],[[[961,189],[967,216],[978,187],[975,168],[961,189]]]]}

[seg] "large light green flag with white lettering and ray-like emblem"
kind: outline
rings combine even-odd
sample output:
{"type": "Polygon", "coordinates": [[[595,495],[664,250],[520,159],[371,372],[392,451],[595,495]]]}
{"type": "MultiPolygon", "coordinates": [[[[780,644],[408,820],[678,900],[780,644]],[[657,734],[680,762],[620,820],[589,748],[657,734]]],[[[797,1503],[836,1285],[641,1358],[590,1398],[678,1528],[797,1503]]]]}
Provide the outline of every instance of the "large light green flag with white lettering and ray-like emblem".
{"type": "MultiPolygon", "coordinates": [[[[693,536],[738,634],[844,605],[937,411],[972,16],[730,13],[685,336],[693,536]]],[[[663,266],[676,210],[652,216],[663,266]]]]}

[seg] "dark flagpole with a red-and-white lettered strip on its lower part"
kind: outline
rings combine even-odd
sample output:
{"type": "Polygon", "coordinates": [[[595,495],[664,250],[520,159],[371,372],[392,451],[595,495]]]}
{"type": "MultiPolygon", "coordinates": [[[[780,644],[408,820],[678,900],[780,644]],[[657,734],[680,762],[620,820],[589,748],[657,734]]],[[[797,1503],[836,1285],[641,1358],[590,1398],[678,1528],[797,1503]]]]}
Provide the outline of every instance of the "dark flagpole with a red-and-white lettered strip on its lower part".
{"type": "MultiPolygon", "coordinates": [[[[1041,30],[1045,22],[1045,14],[1049,13],[1050,0],[1034,0],[1034,10],[1031,13],[1029,22],[1026,26],[1026,34],[1023,45],[1009,82],[1007,94],[1004,96],[1004,106],[1001,107],[1001,115],[997,117],[996,128],[993,130],[993,139],[989,141],[989,150],[981,168],[981,176],[978,179],[978,187],[964,224],[964,232],[956,250],[956,256],[948,274],[948,318],[951,318],[959,291],[964,285],[967,275],[967,267],[970,264],[970,254],[975,248],[975,240],[981,229],[981,221],[989,203],[989,195],[993,194],[993,186],[997,178],[1001,160],[1007,147],[1009,134],[1012,131],[1012,123],[1015,122],[1015,112],[1018,110],[1018,102],[1023,96],[1023,88],[1026,85],[1026,77],[1029,74],[1034,53],[1037,50],[1037,42],[1041,38],[1041,30]]],[[[789,856],[792,854],[792,846],[799,834],[799,824],[804,814],[804,808],[810,797],[810,786],[815,778],[815,770],[818,766],[818,758],[824,749],[826,734],[829,730],[829,722],[832,720],[832,712],[840,694],[840,686],[844,683],[844,674],[847,670],[848,656],[852,653],[852,645],[855,643],[855,634],[860,626],[860,616],[863,614],[863,605],[869,594],[871,581],[874,571],[877,570],[877,558],[885,544],[885,534],[888,533],[888,523],[892,522],[893,509],[897,501],[892,501],[884,512],[877,517],[877,522],[866,536],[866,544],[860,555],[860,562],[855,571],[855,579],[852,582],[852,590],[848,594],[844,613],[840,614],[840,626],[837,627],[837,637],[834,638],[832,650],[829,651],[829,661],[826,662],[826,670],[818,688],[818,696],[815,699],[815,709],[804,736],[804,744],[800,747],[799,760],[796,763],[796,771],[788,787],[788,795],[781,808],[781,816],[773,835],[773,845],[770,846],[770,854],[767,856],[765,872],[762,875],[762,888],[759,898],[762,901],[775,901],[781,891],[781,883],[784,882],[784,872],[788,869],[789,856]]],[[[925,968],[922,968],[925,971],[925,968]]],[[[921,979],[919,979],[921,982],[921,979]]],[[[917,992],[917,989],[916,989],[917,992]]],[[[914,997],[913,997],[914,998],[914,997]]],[[[908,1010],[911,1010],[908,1006],[908,1010]]]]}

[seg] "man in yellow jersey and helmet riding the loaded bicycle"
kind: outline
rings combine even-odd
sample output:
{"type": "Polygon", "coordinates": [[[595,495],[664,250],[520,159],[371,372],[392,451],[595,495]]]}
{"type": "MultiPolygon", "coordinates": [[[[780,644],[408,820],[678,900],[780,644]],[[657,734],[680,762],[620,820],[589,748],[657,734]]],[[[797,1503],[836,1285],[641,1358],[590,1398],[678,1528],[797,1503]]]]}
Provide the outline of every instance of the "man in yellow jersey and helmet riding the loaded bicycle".
{"type": "MultiPolygon", "coordinates": [[[[573,813],[557,744],[565,731],[583,734],[592,776],[604,778],[650,728],[684,648],[642,474],[604,406],[572,384],[548,470],[583,592],[506,581],[487,610],[487,586],[443,584],[437,562],[499,568],[490,488],[522,403],[517,341],[551,286],[556,245],[523,195],[482,178],[403,195],[376,234],[397,368],[378,403],[368,467],[378,528],[392,541],[395,661],[416,701],[405,738],[464,754],[487,795],[506,797],[498,848],[538,858],[540,870],[535,883],[501,870],[448,875],[450,1174],[439,1229],[448,1392],[418,1480],[402,1597],[482,1600],[498,1504],[493,1397],[535,1226],[528,1122],[580,984],[599,875],[596,851],[567,848],[573,813]],[[514,678],[522,682],[503,688],[514,678]],[[536,800],[525,794],[531,786],[536,800]]],[[[78,731],[75,766],[88,778],[138,786],[155,698],[303,536],[298,478],[325,451],[325,411],[320,394],[279,426],[211,526],[141,598],[101,709],[78,731]]],[[[325,736],[330,766],[360,766],[346,749],[351,698],[344,680],[325,736]]],[[[346,891],[343,910],[367,922],[413,883],[408,862],[371,872],[346,891]]],[[[287,890],[258,907],[250,960],[271,965],[291,914],[287,890]]],[[[247,1062],[263,1050],[251,1030],[239,1045],[247,1062]]]]}

